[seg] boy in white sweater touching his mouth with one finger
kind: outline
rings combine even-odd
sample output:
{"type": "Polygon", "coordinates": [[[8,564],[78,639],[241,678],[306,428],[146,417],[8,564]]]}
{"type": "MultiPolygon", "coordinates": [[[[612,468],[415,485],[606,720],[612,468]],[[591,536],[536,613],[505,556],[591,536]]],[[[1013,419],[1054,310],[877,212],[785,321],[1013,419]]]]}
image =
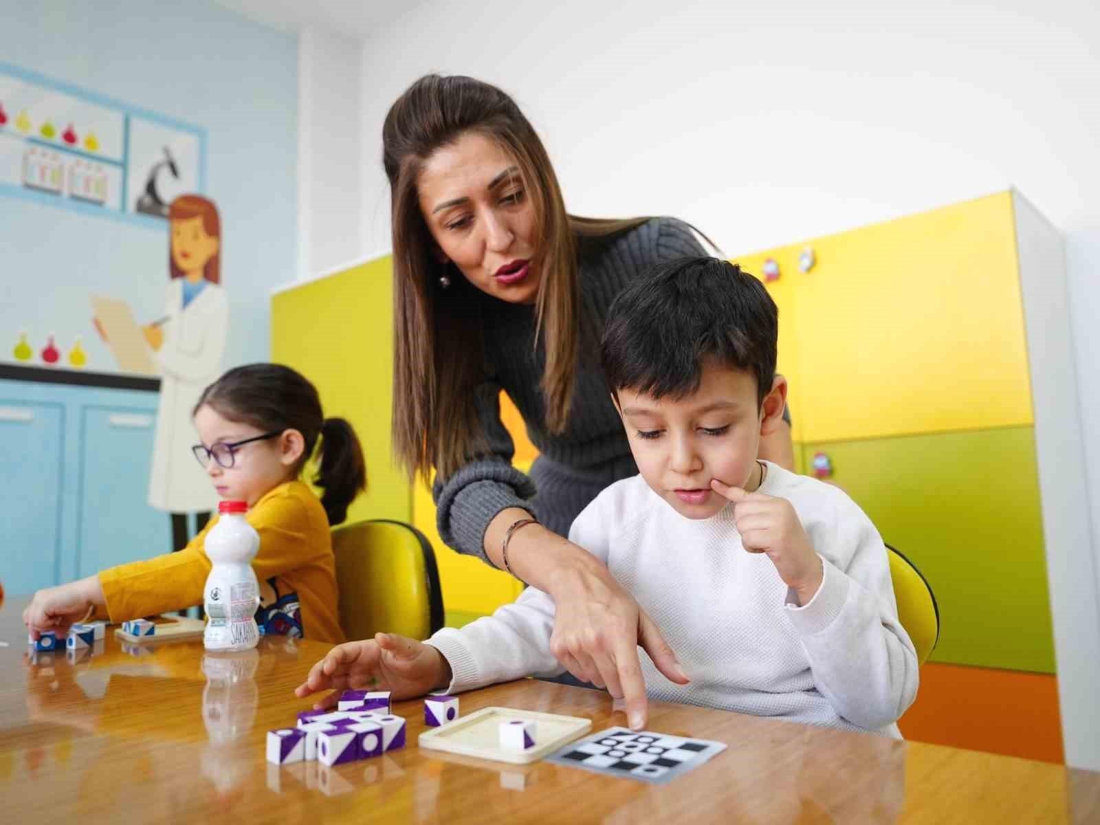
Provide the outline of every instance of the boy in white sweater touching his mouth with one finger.
{"type": "MultiPolygon", "coordinates": [[[[607,564],[690,676],[676,684],[641,657],[650,698],[900,737],[917,662],[882,539],[837,487],[757,460],[787,397],[777,331],[761,284],[716,258],[663,264],[625,289],[602,359],[639,474],[601,493],[569,538],[607,564]]],[[[333,648],[297,694],[381,683],[404,698],[558,675],[553,618],[528,587],[424,644],[378,634],[333,648]]]]}

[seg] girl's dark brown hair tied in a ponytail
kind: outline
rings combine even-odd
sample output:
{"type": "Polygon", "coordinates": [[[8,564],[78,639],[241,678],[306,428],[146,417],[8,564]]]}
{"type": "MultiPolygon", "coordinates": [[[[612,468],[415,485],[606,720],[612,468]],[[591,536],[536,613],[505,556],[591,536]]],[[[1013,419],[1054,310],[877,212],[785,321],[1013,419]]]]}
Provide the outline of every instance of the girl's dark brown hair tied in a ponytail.
{"type": "Polygon", "coordinates": [[[295,473],[314,454],[320,438],[320,468],[314,483],[324,490],[321,505],[330,525],[343,521],[348,505],[366,490],[366,464],[355,431],[343,418],[324,418],[317,388],[289,366],[248,364],[230,370],[202,391],[194,411],[204,405],[257,430],[298,430],[306,449],[295,473]]]}

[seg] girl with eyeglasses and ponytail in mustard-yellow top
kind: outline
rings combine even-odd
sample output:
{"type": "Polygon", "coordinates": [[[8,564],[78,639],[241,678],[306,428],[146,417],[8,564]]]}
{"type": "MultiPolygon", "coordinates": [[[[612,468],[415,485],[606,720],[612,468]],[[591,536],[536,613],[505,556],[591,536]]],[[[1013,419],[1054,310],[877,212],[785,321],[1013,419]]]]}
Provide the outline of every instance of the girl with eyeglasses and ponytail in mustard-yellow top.
{"type": "MultiPolygon", "coordinates": [[[[324,418],[316,387],[278,364],[230,370],[202,392],[193,420],[200,439],[195,458],[219,496],[248,503],[246,518],[260,534],[252,561],[261,583],[256,623],[271,635],[344,641],[329,530],[366,488],[351,425],[324,418]],[[320,498],[300,479],[315,451],[320,498]]],[[[36,636],[64,632],[88,615],[120,623],[201,604],[210,572],[204,544],[217,521],[179,552],[38,591],[23,622],[36,636]]]]}

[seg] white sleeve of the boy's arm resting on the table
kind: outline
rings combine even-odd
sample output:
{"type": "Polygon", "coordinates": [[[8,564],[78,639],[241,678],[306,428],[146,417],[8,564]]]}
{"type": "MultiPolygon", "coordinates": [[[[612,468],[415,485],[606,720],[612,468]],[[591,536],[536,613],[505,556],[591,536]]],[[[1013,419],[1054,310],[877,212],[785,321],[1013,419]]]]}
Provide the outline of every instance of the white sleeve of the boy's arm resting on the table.
{"type": "MultiPolygon", "coordinates": [[[[607,530],[596,503],[590,504],[569,531],[569,540],[607,562],[607,530]]],[[[550,649],[553,600],[527,587],[513,604],[497,608],[461,629],[444,627],[427,644],[451,666],[448,692],[469,691],[527,675],[556,676],[565,672],[550,649]]]]}

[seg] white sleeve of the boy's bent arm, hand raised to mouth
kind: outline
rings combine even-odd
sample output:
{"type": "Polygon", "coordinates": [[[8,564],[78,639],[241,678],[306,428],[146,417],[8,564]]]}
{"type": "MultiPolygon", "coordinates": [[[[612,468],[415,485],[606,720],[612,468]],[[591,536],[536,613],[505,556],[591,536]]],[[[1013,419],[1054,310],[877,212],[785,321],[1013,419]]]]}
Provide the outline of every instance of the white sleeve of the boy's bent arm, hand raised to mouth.
{"type": "Polygon", "coordinates": [[[821,587],[802,607],[788,603],[787,615],[817,690],[847,721],[878,729],[897,722],[916,696],[916,651],[898,619],[882,538],[847,496],[838,502],[825,540],[832,547],[815,547],[821,587]],[[831,558],[849,561],[840,570],[831,558]]]}

